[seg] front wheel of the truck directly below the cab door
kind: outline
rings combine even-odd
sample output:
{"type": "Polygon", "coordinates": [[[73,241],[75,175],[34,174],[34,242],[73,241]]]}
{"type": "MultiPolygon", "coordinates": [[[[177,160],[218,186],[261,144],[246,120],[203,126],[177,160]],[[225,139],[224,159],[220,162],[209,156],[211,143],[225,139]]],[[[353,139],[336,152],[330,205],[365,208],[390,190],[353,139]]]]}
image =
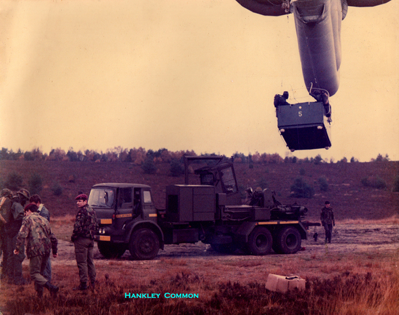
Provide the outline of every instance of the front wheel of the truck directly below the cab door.
{"type": "Polygon", "coordinates": [[[159,239],[154,231],[143,228],[132,234],[129,243],[130,255],[136,260],[149,260],[158,255],[159,239]]]}

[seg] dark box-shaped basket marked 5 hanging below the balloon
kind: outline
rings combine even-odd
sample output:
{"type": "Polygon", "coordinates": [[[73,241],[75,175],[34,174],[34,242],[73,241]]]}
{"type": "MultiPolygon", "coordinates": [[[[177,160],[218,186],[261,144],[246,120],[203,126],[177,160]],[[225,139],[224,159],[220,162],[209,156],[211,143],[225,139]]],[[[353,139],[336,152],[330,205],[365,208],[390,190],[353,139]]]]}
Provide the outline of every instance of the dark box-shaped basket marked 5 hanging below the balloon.
{"type": "Polygon", "coordinates": [[[276,107],[277,127],[291,151],[329,149],[330,123],[322,102],[306,102],[276,107]]]}

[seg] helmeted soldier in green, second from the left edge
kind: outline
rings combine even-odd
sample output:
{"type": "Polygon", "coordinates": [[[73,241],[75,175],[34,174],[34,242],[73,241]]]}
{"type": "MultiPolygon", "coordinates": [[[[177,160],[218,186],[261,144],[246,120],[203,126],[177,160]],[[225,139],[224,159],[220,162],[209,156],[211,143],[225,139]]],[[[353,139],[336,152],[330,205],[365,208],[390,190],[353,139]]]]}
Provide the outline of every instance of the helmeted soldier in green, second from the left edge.
{"type": "MultiPolygon", "coordinates": [[[[19,251],[18,255],[13,254],[13,249],[16,244],[16,236],[22,225],[22,219],[24,215],[23,206],[26,201],[29,200],[29,191],[26,189],[20,189],[11,199],[11,215],[10,221],[5,224],[5,233],[7,234],[7,272],[8,272],[8,283],[14,285],[24,285],[27,282],[22,278],[22,261],[25,259],[23,253],[23,247],[19,251]]],[[[22,244],[21,246],[24,246],[22,244]]]]}

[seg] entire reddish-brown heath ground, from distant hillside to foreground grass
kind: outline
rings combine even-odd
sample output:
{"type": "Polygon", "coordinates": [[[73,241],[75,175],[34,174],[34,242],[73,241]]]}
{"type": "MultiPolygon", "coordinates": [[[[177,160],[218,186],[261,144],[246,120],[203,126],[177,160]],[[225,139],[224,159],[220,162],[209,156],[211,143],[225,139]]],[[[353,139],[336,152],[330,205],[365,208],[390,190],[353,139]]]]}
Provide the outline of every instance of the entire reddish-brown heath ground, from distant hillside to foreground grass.
{"type": "MultiPolygon", "coordinates": [[[[390,235],[390,247],[384,247],[388,242],[384,237],[397,231],[393,227],[399,224],[399,194],[391,190],[398,175],[398,162],[255,164],[253,168],[236,164],[241,187],[266,185],[276,191],[281,202],[306,205],[310,220],[319,220],[320,208],[329,199],[337,218],[338,234],[334,235],[337,243],[324,247],[308,242],[304,252],[262,257],[201,255],[207,248],[200,245],[173,247],[152,261],[132,261],[128,254],[119,260],[105,260],[97,253],[96,289],[84,293],[73,291],[78,285],[78,275],[69,239],[77,191],[88,193],[91,185],[98,182],[139,182],[153,187],[156,205],[163,208],[165,186],[182,183],[184,179],[170,176],[167,164],[157,167],[157,173],[150,175],[129,163],[1,161],[1,177],[16,171],[24,178],[25,188],[32,173],[42,177],[40,194],[51,212],[51,225],[60,241],[61,254],[53,260],[52,282],[60,287],[56,299],[51,299],[48,292],[42,300],[37,299],[33,284],[16,287],[1,283],[0,312],[4,315],[399,314],[399,236],[390,235]],[[299,176],[315,188],[312,199],[289,197],[290,186],[299,176]],[[362,178],[373,176],[385,180],[387,188],[362,185],[362,178]],[[327,191],[318,188],[320,177],[326,179],[327,191]],[[63,187],[59,197],[51,192],[53,182],[63,187]],[[375,240],[377,235],[381,241],[375,240]],[[186,250],[194,253],[185,255],[186,250]],[[299,275],[306,279],[306,290],[288,294],[267,291],[269,273],[299,275]],[[193,294],[198,298],[165,297],[167,293],[193,294]],[[154,294],[156,298],[129,298],[126,294],[154,294]]],[[[26,278],[26,260],[23,273],[26,278]]]]}

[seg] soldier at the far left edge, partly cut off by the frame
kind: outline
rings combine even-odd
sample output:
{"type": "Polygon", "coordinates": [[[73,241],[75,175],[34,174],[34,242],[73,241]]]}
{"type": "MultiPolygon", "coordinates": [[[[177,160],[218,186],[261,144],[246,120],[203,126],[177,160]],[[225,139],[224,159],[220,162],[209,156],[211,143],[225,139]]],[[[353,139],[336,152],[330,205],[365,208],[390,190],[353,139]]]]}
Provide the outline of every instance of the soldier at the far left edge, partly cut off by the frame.
{"type": "Polygon", "coordinates": [[[5,233],[5,224],[9,222],[11,217],[11,197],[12,191],[4,188],[1,190],[0,198],[0,252],[2,255],[1,261],[1,279],[5,278],[7,274],[7,235],[5,233]]]}

